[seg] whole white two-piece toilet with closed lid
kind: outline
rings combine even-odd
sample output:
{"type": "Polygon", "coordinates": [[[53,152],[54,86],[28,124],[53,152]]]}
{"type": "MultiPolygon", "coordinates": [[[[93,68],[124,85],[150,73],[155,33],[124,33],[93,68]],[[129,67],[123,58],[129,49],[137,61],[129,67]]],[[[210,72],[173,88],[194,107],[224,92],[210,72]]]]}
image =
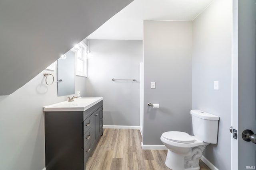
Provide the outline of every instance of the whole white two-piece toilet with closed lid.
{"type": "Polygon", "coordinates": [[[165,164],[172,170],[199,170],[199,159],[206,146],[217,143],[219,117],[200,110],[191,110],[194,136],[169,131],[161,136],[168,148],[165,164]]]}

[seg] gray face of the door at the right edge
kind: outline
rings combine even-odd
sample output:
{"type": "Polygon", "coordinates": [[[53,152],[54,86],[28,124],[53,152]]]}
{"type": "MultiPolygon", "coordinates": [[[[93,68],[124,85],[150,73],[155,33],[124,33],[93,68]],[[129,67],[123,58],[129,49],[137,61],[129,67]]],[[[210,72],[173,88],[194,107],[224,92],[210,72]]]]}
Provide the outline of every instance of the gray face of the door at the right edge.
{"type": "Polygon", "coordinates": [[[256,133],[255,3],[238,0],[238,170],[256,165],[256,145],[241,138],[245,129],[256,133]]]}

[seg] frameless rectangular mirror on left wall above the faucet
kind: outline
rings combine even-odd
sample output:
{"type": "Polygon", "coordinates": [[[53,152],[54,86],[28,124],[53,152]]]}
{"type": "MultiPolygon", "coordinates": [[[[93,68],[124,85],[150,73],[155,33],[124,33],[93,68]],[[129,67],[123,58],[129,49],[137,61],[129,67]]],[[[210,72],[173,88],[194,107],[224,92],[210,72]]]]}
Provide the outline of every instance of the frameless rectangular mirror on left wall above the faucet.
{"type": "Polygon", "coordinates": [[[58,96],[75,94],[75,53],[68,51],[57,61],[58,96]]]}

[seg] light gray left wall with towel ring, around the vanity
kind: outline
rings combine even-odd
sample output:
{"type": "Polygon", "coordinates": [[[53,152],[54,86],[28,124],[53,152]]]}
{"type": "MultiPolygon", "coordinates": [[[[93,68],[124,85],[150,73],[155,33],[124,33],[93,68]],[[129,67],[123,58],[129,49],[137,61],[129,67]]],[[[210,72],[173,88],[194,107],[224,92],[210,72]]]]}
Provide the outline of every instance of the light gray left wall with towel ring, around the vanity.
{"type": "MultiPolygon", "coordinates": [[[[0,96],[1,170],[42,170],[45,167],[43,106],[67,100],[57,97],[57,84],[47,86],[43,73],[9,96],[0,96]]],[[[75,91],[85,96],[86,78],[76,76],[75,91]]]]}

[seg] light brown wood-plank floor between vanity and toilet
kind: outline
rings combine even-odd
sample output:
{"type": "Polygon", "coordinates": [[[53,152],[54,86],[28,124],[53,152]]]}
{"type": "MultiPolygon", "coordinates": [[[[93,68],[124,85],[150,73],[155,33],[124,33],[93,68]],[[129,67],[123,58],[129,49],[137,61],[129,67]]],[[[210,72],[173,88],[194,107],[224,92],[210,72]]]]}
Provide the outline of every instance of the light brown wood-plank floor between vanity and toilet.
{"type": "MultiPolygon", "coordinates": [[[[104,129],[104,135],[86,170],[170,170],[165,165],[167,150],[142,150],[137,129],[104,129]]],[[[200,170],[210,170],[200,160],[200,170]]]]}

